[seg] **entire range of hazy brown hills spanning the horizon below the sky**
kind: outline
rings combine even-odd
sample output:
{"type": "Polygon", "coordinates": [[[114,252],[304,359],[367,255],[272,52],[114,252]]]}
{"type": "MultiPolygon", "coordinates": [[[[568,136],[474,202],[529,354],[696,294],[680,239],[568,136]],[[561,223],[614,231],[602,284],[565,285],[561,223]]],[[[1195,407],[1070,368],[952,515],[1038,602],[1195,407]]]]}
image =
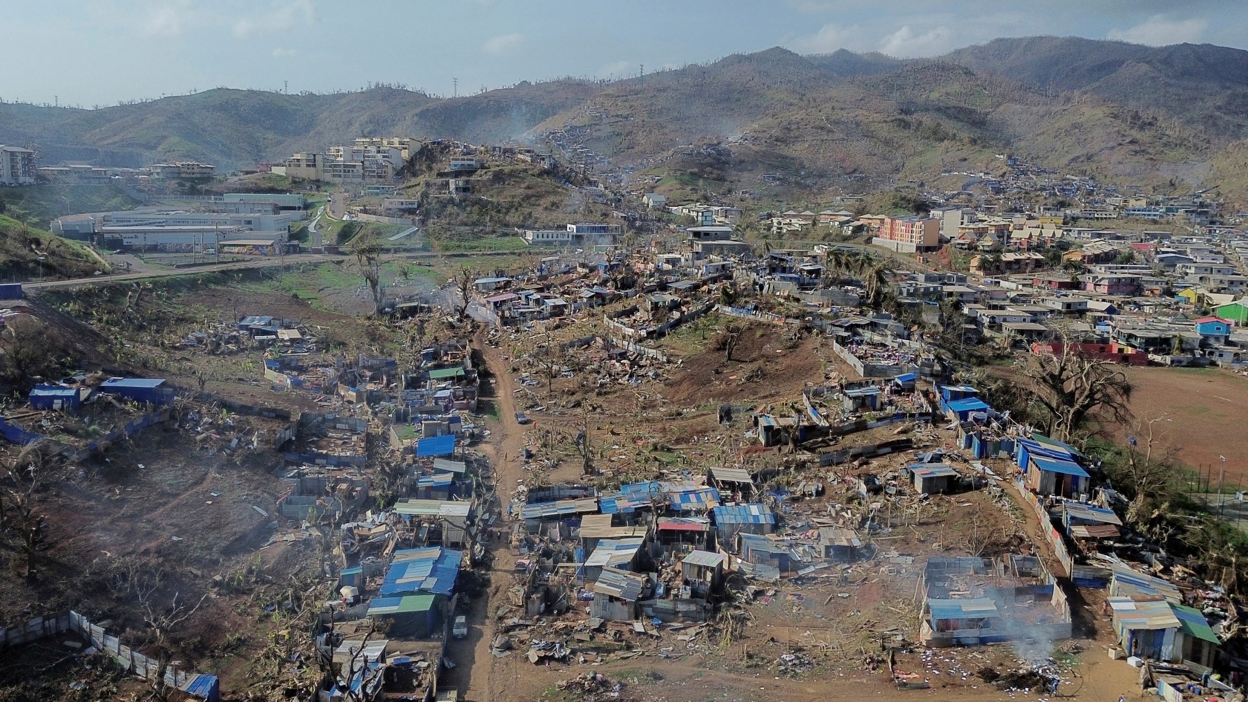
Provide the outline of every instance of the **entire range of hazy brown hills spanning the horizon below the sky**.
{"type": "Polygon", "coordinates": [[[1226,182],[1248,135],[1248,51],[1071,37],[998,39],[930,60],[840,50],[731,55],[614,82],[558,80],[436,99],[374,87],[333,95],[210,90],[100,110],[0,105],[0,142],[45,162],[223,169],[361,135],[474,142],[558,135],[607,160],[680,175],[691,191],[871,190],[992,165],[1003,151],[1107,179],[1226,182]]]}

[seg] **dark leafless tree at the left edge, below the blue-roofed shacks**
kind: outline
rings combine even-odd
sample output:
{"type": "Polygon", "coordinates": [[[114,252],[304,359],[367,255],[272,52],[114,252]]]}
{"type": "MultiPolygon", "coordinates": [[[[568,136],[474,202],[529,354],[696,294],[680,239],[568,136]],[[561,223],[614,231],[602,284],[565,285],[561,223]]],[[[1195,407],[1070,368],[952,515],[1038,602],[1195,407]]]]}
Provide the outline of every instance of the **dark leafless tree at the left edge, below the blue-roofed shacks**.
{"type": "Polygon", "coordinates": [[[35,577],[35,558],[46,545],[39,496],[52,478],[56,456],[39,440],[21,447],[0,467],[0,533],[14,537],[25,557],[26,577],[35,577]]]}

